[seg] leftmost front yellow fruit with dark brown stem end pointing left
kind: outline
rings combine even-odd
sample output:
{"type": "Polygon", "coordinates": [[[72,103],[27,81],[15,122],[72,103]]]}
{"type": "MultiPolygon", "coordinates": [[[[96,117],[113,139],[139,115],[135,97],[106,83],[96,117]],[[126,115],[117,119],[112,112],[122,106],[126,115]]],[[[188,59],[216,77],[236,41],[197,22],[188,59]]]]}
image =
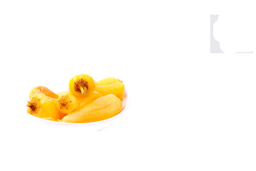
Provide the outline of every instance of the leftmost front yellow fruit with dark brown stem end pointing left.
{"type": "Polygon", "coordinates": [[[28,113],[45,119],[58,120],[64,117],[56,108],[57,100],[43,93],[36,94],[28,101],[28,113]]]}

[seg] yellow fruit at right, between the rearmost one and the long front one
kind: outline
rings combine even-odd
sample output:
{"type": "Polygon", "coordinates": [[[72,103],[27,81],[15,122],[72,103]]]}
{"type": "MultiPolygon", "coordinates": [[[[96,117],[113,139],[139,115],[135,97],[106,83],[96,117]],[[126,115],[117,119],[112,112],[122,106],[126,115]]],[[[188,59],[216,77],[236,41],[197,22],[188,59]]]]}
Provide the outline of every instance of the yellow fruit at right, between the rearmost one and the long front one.
{"type": "Polygon", "coordinates": [[[116,97],[120,98],[120,100],[124,97],[124,84],[122,82],[115,82],[113,84],[101,84],[97,85],[95,91],[99,92],[100,94],[107,95],[107,94],[115,94],[116,97]]]}

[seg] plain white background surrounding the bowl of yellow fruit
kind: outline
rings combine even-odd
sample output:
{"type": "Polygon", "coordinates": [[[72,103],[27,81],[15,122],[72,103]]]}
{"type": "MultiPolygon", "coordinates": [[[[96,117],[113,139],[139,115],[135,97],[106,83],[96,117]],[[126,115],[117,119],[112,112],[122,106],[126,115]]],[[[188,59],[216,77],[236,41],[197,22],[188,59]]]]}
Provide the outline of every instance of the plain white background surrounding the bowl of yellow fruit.
{"type": "Polygon", "coordinates": [[[256,55],[220,29],[252,2],[1,0],[0,170],[255,170],[256,55]],[[228,53],[209,53],[211,14],[228,53]],[[80,73],[124,81],[123,117],[102,131],[29,119],[32,87],[80,73]]]}

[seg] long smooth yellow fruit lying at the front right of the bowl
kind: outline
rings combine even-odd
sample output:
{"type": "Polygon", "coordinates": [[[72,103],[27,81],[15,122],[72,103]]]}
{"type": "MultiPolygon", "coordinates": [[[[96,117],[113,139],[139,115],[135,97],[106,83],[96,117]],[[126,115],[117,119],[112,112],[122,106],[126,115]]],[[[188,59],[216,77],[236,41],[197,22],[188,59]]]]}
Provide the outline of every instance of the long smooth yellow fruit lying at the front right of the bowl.
{"type": "Polygon", "coordinates": [[[93,100],[83,108],[63,117],[65,123],[92,123],[117,115],[122,110],[122,101],[114,94],[93,100]]]}

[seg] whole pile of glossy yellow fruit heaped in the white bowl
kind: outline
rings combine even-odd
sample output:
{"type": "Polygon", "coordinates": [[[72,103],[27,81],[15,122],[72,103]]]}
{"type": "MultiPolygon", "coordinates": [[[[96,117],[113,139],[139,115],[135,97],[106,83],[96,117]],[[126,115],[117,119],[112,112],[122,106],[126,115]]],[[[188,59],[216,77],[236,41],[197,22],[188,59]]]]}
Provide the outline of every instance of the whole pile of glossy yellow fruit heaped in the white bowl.
{"type": "Polygon", "coordinates": [[[28,113],[65,123],[92,123],[117,115],[122,110],[124,84],[116,78],[95,82],[86,74],[70,79],[69,91],[53,93],[38,86],[29,93],[28,113]]]}

